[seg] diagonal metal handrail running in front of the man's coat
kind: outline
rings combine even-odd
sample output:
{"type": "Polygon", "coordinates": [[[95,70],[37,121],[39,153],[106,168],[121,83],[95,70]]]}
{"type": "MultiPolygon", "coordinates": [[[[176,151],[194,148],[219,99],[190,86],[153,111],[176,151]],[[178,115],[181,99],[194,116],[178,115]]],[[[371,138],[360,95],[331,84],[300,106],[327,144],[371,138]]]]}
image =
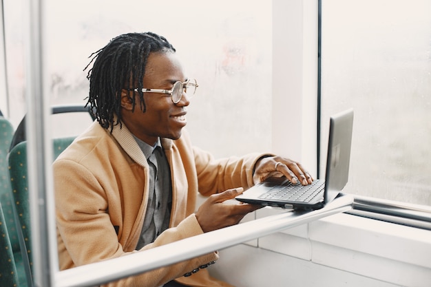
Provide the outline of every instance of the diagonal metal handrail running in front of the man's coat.
{"type": "Polygon", "coordinates": [[[104,284],[342,213],[350,210],[352,205],[353,197],[344,195],[316,211],[286,211],[146,251],[59,271],[54,276],[54,286],[78,287],[104,284]]]}

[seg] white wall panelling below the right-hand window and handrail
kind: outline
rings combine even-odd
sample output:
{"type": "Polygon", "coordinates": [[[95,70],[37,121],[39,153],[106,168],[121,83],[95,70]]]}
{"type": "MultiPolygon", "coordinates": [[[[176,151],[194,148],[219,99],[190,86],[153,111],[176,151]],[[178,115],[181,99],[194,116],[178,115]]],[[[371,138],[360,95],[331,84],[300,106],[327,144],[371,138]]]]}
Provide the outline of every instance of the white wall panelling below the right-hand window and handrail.
{"type": "Polygon", "coordinates": [[[224,249],[210,271],[237,287],[427,287],[430,258],[430,231],[341,213],[224,249]]]}

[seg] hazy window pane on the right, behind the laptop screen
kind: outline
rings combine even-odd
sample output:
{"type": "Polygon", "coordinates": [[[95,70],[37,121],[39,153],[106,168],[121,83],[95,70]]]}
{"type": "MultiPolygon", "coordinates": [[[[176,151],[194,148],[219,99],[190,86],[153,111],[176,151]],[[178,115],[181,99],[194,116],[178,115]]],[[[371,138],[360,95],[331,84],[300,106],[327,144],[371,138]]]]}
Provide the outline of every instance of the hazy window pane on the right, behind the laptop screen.
{"type": "Polygon", "coordinates": [[[322,160],[328,118],[355,109],[345,191],[431,204],[431,1],[322,1],[322,160]]]}

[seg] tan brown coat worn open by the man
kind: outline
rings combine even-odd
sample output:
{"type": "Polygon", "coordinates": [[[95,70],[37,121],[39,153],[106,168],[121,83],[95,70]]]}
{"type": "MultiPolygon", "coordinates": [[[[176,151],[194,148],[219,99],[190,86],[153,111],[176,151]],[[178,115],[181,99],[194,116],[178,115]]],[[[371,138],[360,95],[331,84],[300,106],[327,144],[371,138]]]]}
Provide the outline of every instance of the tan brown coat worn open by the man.
{"type": "MultiPolygon", "coordinates": [[[[211,195],[234,187],[251,187],[255,161],[262,156],[215,160],[192,147],[185,130],[179,140],[163,138],[162,147],[171,168],[170,228],[141,250],[202,234],[193,214],[198,191],[211,195]]],[[[121,129],[115,126],[109,134],[94,122],[53,167],[61,270],[139,252],[134,249],[147,207],[149,167],[125,125],[121,129]]],[[[107,286],[160,286],[177,277],[190,286],[230,286],[209,277],[207,269],[182,277],[216,259],[218,253],[214,252],[107,286]]]]}

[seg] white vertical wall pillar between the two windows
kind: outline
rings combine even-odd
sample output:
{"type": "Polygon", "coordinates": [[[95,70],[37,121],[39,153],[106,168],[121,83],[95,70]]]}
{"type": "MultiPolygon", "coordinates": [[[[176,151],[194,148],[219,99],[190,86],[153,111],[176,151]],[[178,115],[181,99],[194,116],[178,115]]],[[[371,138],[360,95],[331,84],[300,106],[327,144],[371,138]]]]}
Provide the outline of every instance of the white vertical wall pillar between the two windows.
{"type": "Polygon", "coordinates": [[[317,173],[317,0],[273,1],[272,149],[317,173]]]}

